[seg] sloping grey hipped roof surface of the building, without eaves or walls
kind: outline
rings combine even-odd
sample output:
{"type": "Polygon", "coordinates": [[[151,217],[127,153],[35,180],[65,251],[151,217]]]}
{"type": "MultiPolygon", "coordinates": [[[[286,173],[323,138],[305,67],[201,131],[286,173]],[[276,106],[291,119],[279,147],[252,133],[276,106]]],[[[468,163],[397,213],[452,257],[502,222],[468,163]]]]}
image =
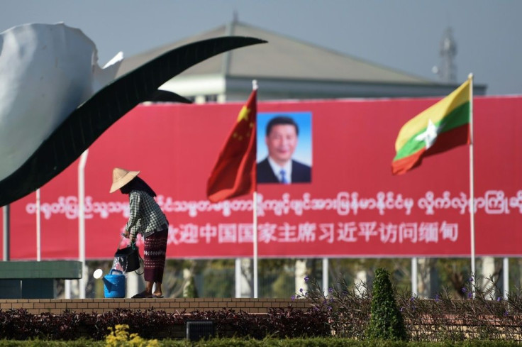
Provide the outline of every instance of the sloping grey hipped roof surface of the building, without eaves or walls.
{"type": "Polygon", "coordinates": [[[221,75],[332,82],[370,82],[392,84],[433,84],[422,77],[377,65],[366,60],[335,52],[302,40],[288,38],[233,21],[211,31],[163,45],[123,60],[118,75],[151,60],[167,50],[188,43],[225,35],[250,36],[268,43],[232,50],[194,65],[179,76],[221,75]]]}

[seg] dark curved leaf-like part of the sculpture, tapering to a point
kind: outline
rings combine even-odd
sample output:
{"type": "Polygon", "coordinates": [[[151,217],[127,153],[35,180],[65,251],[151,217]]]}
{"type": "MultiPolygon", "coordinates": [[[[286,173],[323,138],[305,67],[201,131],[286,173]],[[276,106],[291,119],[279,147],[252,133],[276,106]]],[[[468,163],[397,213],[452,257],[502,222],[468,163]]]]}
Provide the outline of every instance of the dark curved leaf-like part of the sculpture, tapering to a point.
{"type": "MultiPolygon", "coordinates": [[[[167,94],[158,94],[157,89],[167,80],[209,57],[257,43],[266,41],[239,36],[201,40],[170,50],[106,85],[78,106],[21,167],[0,181],[0,206],[49,182],[140,102],[165,98],[167,94]]],[[[188,101],[172,94],[176,101],[188,101]]]]}

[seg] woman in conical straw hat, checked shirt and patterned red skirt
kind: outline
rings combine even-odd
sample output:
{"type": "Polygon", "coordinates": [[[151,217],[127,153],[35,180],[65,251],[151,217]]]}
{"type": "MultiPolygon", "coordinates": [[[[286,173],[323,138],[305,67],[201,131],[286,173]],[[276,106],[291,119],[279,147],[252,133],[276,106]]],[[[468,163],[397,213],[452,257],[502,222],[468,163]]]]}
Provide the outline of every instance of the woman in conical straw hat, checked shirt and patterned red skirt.
{"type": "Polygon", "coordinates": [[[165,269],[169,222],[155,202],[156,193],[138,177],[139,173],[139,171],[114,168],[110,192],[120,189],[122,194],[128,194],[130,213],[123,236],[135,243],[136,236],[140,233],[145,243],[143,250],[145,290],[133,297],[159,298],[163,297],[161,284],[165,269]]]}

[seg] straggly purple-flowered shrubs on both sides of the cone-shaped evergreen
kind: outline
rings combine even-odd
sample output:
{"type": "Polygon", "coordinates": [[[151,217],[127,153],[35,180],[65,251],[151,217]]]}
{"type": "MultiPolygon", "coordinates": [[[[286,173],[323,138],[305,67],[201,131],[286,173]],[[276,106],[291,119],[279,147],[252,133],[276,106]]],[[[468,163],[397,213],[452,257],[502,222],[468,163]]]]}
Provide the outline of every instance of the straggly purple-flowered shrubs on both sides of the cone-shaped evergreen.
{"type": "MultiPolygon", "coordinates": [[[[357,340],[367,338],[372,299],[377,293],[369,290],[365,282],[348,285],[342,277],[334,280],[326,293],[313,277],[306,276],[304,280],[308,292],[299,292],[293,299],[306,299],[313,309],[325,312],[334,336],[357,340]]],[[[491,283],[484,286],[488,290],[483,290],[477,284],[482,281],[471,276],[461,288],[465,293],[463,297],[454,297],[448,288],[431,299],[412,296],[408,290],[388,292],[395,296],[409,340],[522,341],[521,288],[509,292],[506,299],[494,297],[492,292],[500,293],[501,290],[491,278],[486,280],[491,283]]]]}

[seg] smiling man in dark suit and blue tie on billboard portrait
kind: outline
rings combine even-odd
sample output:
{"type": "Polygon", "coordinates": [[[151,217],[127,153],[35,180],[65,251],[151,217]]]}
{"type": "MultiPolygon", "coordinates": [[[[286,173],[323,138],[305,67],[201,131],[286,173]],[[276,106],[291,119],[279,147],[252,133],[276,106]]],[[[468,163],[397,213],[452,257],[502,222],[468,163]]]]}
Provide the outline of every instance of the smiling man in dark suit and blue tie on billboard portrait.
{"type": "Polygon", "coordinates": [[[268,122],[265,135],[268,156],[257,163],[257,183],[310,182],[311,167],[291,158],[297,136],[299,127],[288,116],[276,116],[268,122]]]}

